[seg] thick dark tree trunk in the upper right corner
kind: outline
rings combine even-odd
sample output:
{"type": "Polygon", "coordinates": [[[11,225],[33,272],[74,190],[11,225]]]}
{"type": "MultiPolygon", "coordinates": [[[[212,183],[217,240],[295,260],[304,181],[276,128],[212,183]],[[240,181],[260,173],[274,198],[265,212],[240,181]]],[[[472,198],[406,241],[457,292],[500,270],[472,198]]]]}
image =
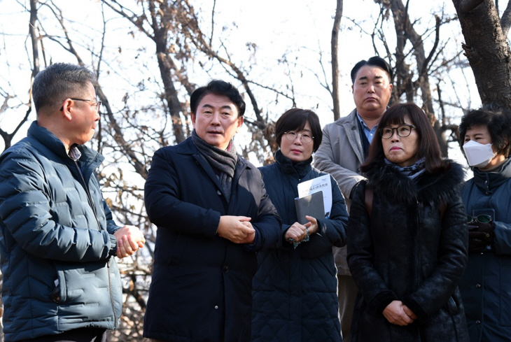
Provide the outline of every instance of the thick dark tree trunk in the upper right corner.
{"type": "Polygon", "coordinates": [[[495,102],[511,108],[511,51],[493,0],[452,2],[482,104],[495,102]]]}

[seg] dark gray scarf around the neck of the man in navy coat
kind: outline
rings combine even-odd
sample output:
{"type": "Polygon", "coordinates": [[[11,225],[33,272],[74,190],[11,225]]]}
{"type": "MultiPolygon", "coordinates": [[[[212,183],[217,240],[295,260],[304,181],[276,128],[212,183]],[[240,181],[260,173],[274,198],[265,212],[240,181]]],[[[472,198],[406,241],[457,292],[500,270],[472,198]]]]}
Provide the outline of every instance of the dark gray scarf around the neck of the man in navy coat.
{"type": "Polygon", "coordinates": [[[197,136],[195,129],[192,131],[192,141],[201,153],[206,158],[207,162],[213,167],[220,185],[222,187],[223,195],[229,203],[231,197],[232,178],[235,176],[236,162],[238,156],[236,154],[235,145],[232,140],[225,150],[217,148],[214,145],[209,145],[206,141],[197,136]]]}

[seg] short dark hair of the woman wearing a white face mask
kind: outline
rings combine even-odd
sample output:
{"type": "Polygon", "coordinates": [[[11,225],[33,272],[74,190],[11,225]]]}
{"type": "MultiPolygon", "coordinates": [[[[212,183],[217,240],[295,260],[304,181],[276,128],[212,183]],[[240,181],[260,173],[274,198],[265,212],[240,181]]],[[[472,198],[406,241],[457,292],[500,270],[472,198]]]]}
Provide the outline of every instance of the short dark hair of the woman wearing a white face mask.
{"type": "Polygon", "coordinates": [[[459,142],[463,146],[465,134],[475,126],[486,126],[491,137],[491,144],[497,153],[507,158],[511,151],[511,111],[498,104],[486,104],[482,108],[469,111],[461,118],[458,127],[459,142]]]}

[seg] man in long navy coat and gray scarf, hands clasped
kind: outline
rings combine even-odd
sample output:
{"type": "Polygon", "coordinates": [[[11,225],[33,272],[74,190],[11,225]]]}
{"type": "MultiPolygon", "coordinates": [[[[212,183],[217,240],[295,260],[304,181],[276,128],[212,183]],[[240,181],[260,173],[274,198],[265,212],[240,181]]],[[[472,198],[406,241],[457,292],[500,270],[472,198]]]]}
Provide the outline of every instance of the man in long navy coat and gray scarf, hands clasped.
{"type": "Polygon", "coordinates": [[[238,90],[211,81],[190,109],[192,136],[158,150],[146,181],[158,236],[144,336],[246,342],[255,251],[276,243],[281,222],[260,171],[232,142],[245,111],[238,90]]]}

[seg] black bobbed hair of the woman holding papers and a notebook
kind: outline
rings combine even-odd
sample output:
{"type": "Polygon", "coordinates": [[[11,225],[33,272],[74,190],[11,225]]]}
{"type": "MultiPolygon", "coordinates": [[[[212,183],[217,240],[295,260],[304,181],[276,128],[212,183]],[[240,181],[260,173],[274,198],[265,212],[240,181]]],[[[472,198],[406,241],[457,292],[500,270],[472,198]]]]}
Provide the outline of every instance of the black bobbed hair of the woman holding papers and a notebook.
{"type": "Polygon", "coordinates": [[[275,138],[276,143],[280,146],[282,136],[286,131],[301,131],[309,122],[311,127],[312,136],[314,136],[313,152],[316,152],[323,139],[323,131],[321,131],[321,124],[319,117],[313,111],[308,109],[291,108],[286,113],[283,113],[275,124],[275,138]]]}

